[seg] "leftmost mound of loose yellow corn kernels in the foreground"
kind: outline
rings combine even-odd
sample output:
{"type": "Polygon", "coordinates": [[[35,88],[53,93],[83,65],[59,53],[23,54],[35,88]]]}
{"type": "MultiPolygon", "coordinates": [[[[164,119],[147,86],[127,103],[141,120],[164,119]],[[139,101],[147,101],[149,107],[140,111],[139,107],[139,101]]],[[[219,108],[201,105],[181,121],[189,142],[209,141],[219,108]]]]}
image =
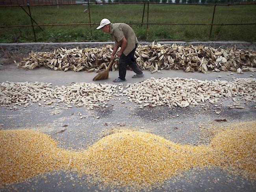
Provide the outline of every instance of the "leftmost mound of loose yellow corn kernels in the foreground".
{"type": "Polygon", "coordinates": [[[70,157],[48,135],[32,130],[2,130],[0,146],[0,186],[65,168],[70,157]]]}

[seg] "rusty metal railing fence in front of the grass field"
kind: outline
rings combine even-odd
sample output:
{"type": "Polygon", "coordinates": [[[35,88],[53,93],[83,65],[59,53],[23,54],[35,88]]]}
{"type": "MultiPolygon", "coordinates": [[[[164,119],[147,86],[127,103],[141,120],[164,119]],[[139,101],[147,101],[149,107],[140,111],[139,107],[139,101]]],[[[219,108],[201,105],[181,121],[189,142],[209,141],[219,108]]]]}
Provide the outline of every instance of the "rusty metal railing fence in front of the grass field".
{"type": "MultiPolygon", "coordinates": [[[[0,26],[0,28],[15,28],[15,27],[32,27],[33,29],[33,34],[34,34],[34,39],[35,39],[35,42],[37,41],[36,39],[36,35],[35,35],[35,30],[34,30],[34,27],[39,27],[41,30],[43,30],[41,28],[41,26],[72,26],[72,25],[89,25],[90,26],[90,32],[91,32],[91,37],[93,37],[93,33],[92,33],[92,28],[91,26],[92,25],[99,25],[100,23],[92,23],[91,22],[91,12],[90,12],[90,5],[91,4],[99,4],[98,2],[89,2],[89,0],[85,3],[74,3],[75,1],[74,0],[58,0],[59,2],[61,3],[58,3],[58,4],[54,4],[54,2],[57,2],[56,1],[51,1],[51,3],[48,3],[48,0],[43,0],[46,2],[46,4],[33,4],[33,5],[30,5],[29,1],[28,0],[13,0],[13,3],[15,3],[16,1],[16,4],[13,4],[13,5],[0,5],[0,7],[21,7],[25,12],[26,14],[30,17],[31,19],[31,25],[8,25],[8,26],[0,26]],[[27,1],[26,4],[19,4],[19,2],[24,2],[24,1],[27,1]],[[68,2],[68,3],[66,3],[68,2]],[[79,4],[87,4],[88,6],[88,15],[89,15],[89,23],[72,23],[72,24],[37,24],[37,22],[35,22],[35,20],[32,18],[32,15],[31,15],[31,11],[30,11],[30,7],[31,6],[63,6],[63,5],[79,5],[79,4]],[[28,7],[28,10],[29,12],[27,12],[23,7],[28,7]]],[[[237,24],[213,24],[213,21],[214,21],[214,15],[215,15],[215,8],[216,6],[241,6],[241,5],[256,5],[256,2],[253,2],[253,3],[245,3],[245,4],[216,4],[216,0],[215,0],[215,4],[183,4],[183,3],[156,3],[156,2],[112,2],[112,3],[108,3],[108,2],[102,2],[100,4],[144,4],[144,7],[143,7],[143,16],[142,16],[142,22],[141,23],[127,23],[129,25],[147,25],[147,39],[148,39],[148,26],[149,25],[204,25],[204,26],[211,26],[211,29],[210,29],[210,34],[209,34],[209,40],[211,40],[211,32],[212,32],[212,27],[213,26],[231,26],[231,25],[256,25],[256,23],[237,23],[237,24]],[[206,23],[206,24],[195,24],[195,23],[150,23],[149,22],[149,5],[150,4],[161,4],[161,5],[193,5],[193,6],[214,6],[213,8],[213,14],[212,14],[212,20],[211,20],[211,23],[206,23]],[[147,23],[144,23],[143,20],[144,20],[144,15],[145,15],[145,6],[147,5],[147,23]]]]}

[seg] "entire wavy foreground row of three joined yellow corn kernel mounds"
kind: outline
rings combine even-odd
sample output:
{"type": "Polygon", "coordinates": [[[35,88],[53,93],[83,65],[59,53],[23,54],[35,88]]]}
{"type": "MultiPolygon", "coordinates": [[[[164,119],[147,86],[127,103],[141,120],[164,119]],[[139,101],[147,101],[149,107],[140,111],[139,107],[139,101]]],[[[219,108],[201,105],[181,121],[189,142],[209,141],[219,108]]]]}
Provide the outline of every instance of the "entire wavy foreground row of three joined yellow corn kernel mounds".
{"type": "Polygon", "coordinates": [[[208,146],[177,144],[126,129],[87,150],[68,151],[43,133],[4,130],[0,131],[0,186],[60,169],[87,174],[106,185],[136,188],[159,185],[183,171],[206,166],[232,166],[256,179],[255,138],[256,121],[227,127],[208,146]]]}

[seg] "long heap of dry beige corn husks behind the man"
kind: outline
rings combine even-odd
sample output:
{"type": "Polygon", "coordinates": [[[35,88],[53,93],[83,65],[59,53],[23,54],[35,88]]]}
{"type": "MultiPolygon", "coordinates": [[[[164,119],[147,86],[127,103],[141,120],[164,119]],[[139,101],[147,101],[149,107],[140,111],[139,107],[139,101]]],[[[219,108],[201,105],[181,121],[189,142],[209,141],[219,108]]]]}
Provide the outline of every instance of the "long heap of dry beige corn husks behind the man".
{"type": "MultiPolygon", "coordinates": [[[[31,52],[29,57],[18,63],[19,68],[33,69],[46,66],[54,70],[100,71],[107,68],[113,45],[100,48],[58,48],[54,52],[31,52]]],[[[161,45],[152,42],[150,45],[139,45],[135,51],[135,59],[142,70],[160,72],[162,69],[184,70],[185,72],[208,71],[256,71],[256,52],[253,50],[237,50],[232,48],[218,49],[203,45],[179,46],[177,44],[161,45]]],[[[112,66],[118,67],[118,59],[112,66]]]]}

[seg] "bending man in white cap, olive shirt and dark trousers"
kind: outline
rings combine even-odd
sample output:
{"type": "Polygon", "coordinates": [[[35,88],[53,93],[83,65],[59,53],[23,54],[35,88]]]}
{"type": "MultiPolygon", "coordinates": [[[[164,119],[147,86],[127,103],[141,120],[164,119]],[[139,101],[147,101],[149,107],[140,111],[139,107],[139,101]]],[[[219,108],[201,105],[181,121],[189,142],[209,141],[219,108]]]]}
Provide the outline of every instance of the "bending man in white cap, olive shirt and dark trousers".
{"type": "Polygon", "coordinates": [[[143,72],[137,66],[136,60],[134,59],[135,50],[138,45],[138,39],[132,28],[125,23],[111,23],[107,18],[104,18],[100,22],[100,26],[96,28],[102,29],[105,33],[110,33],[115,41],[115,46],[111,54],[111,60],[114,59],[115,53],[118,48],[121,47],[120,51],[117,52],[119,57],[119,78],[114,79],[113,82],[125,81],[126,68],[129,65],[136,75],[132,78],[141,78],[144,76],[143,72]]]}

